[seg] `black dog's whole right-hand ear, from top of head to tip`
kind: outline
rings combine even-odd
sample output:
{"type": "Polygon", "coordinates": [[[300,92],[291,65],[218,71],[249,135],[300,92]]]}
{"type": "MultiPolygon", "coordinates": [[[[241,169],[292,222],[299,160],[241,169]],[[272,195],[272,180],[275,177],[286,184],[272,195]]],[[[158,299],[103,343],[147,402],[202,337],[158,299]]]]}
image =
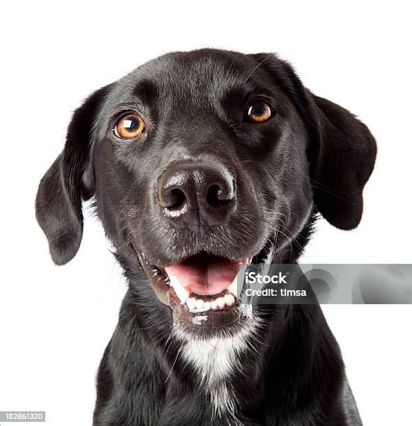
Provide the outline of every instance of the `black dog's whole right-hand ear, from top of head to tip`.
{"type": "Polygon", "coordinates": [[[349,111],[310,93],[286,61],[275,54],[252,57],[289,95],[305,123],[317,210],[337,228],[356,228],[363,212],[363,187],[375,163],[374,137],[349,111]]]}

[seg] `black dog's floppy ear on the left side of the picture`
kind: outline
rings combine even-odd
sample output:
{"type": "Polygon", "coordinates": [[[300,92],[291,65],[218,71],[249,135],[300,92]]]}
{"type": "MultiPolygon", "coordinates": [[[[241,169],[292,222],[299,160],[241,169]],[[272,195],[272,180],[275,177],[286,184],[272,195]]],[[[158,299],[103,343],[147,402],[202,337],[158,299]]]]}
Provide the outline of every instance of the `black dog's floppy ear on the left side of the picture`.
{"type": "Polygon", "coordinates": [[[90,95],[73,114],[63,152],[40,181],[36,219],[49,242],[56,265],[77,253],[83,235],[82,199],[93,196],[94,179],[89,150],[93,123],[110,86],[90,95]]]}

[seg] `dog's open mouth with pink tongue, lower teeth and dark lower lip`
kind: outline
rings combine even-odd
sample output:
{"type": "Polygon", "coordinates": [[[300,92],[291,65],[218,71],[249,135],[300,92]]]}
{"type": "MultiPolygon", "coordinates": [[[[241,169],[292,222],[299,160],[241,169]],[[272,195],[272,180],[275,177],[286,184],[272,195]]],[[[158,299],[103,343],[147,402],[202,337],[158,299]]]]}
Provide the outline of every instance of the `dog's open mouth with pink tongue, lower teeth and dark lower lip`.
{"type": "Polygon", "coordinates": [[[240,317],[243,281],[238,285],[238,270],[251,259],[201,251],[176,265],[157,267],[137,253],[158,299],[173,310],[174,322],[214,328],[240,317]]]}

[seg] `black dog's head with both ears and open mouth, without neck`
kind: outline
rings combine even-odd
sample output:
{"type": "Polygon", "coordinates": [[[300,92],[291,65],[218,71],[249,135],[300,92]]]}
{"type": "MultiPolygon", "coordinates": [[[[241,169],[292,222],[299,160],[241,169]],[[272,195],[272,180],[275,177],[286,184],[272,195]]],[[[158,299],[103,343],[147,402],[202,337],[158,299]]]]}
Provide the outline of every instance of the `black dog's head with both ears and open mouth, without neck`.
{"type": "Polygon", "coordinates": [[[316,212],[358,225],[375,155],[367,127],[275,55],[172,53],[75,111],[36,214],[62,265],[82,239],[82,199],[95,196],[121,264],[151,284],[135,291],[213,329],[242,315],[239,264],[295,261],[316,212]]]}

